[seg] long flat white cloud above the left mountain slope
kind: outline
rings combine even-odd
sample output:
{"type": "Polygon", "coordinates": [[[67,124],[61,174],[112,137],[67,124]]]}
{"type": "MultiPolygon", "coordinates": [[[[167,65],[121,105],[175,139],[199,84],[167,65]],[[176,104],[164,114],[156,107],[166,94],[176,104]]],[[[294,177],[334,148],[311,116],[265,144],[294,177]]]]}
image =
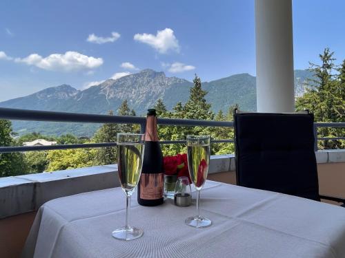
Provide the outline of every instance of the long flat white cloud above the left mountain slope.
{"type": "Polygon", "coordinates": [[[34,65],[45,70],[62,72],[95,69],[103,64],[102,58],[86,56],[73,51],[68,51],[65,54],[50,54],[44,58],[39,54],[30,54],[26,58],[15,58],[14,61],[34,65]]]}

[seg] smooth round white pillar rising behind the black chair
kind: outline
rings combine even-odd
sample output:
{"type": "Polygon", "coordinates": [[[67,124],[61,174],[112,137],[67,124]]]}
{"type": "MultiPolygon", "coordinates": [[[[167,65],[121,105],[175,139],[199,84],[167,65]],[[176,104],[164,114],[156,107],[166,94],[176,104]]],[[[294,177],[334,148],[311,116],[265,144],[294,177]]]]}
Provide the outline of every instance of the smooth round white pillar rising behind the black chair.
{"type": "Polygon", "coordinates": [[[255,0],[257,111],[295,111],[291,0],[255,0]]]}

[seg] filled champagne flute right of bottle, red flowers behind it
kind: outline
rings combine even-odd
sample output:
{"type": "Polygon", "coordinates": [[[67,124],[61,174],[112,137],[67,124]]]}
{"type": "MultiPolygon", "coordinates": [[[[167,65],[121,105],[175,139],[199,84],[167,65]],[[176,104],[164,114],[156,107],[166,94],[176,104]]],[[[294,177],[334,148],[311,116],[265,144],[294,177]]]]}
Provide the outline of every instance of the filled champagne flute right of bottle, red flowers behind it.
{"type": "Polygon", "coordinates": [[[200,215],[200,191],[208,175],[210,136],[187,136],[187,158],[189,175],[197,191],[197,215],[188,217],[185,222],[194,228],[206,228],[212,222],[200,215]]]}

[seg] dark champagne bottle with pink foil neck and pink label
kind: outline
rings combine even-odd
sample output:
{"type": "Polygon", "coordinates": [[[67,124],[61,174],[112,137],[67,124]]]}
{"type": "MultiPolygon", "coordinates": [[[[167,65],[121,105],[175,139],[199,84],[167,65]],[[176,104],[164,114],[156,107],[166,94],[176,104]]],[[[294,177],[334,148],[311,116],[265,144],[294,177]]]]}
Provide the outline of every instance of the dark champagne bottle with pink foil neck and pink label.
{"type": "Polygon", "coordinates": [[[164,166],[157,135],[156,109],[148,109],[144,140],[144,160],[138,184],[137,200],[143,206],[157,206],[164,202],[164,166]]]}

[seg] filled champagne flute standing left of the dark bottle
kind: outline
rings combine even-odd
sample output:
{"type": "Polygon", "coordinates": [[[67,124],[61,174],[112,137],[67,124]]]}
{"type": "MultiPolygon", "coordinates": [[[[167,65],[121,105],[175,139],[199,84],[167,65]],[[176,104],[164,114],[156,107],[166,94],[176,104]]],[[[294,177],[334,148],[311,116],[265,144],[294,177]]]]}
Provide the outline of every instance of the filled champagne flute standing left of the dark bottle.
{"type": "Polygon", "coordinates": [[[121,188],[126,194],[126,225],[117,228],[112,236],[121,240],[137,239],[143,230],[129,225],[130,197],[137,187],[144,158],[143,134],[117,133],[117,161],[121,188]]]}

